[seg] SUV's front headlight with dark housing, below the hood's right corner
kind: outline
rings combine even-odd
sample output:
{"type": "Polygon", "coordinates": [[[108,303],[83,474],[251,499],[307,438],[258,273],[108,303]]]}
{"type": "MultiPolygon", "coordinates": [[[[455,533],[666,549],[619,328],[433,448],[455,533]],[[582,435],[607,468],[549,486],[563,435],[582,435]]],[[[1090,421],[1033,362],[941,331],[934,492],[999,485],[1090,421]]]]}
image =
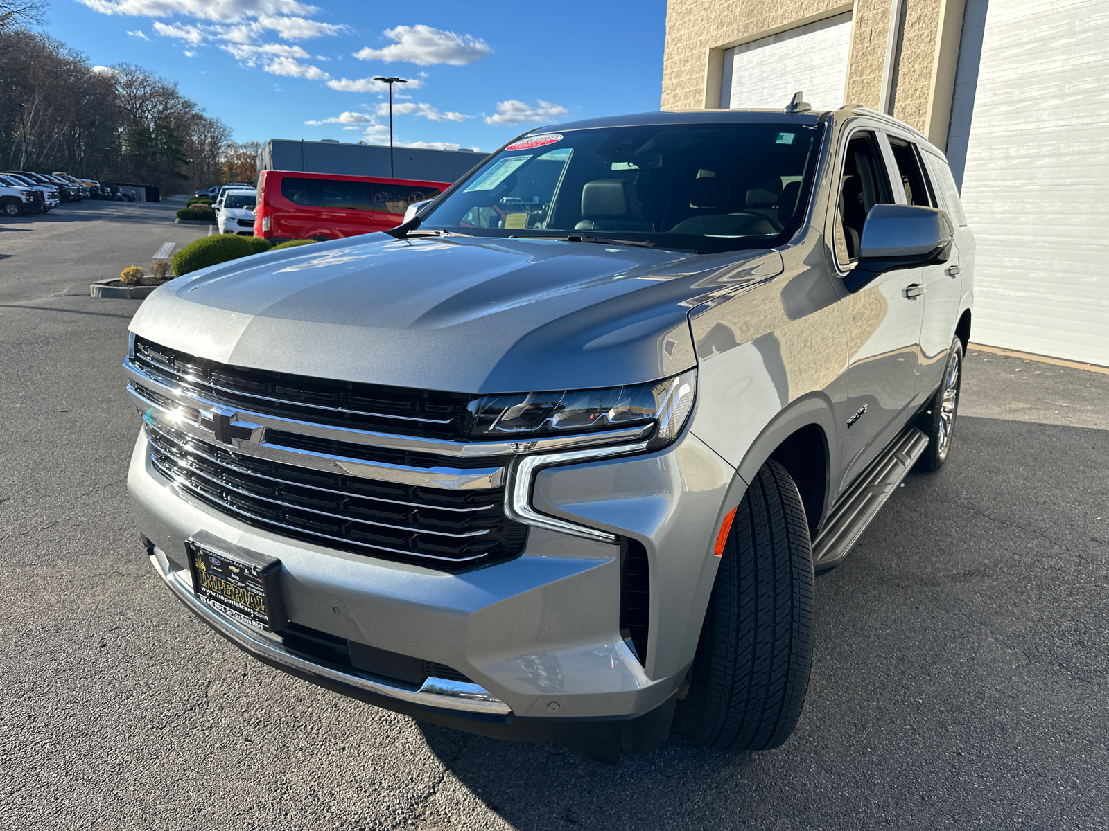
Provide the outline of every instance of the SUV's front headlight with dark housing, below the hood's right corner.
{"type": "Polygon", "coordinates": [[[681,432],[695,393],[691,369],[629,387],[482,396],[469,403],[466,432],[472,439],[526,441],[654,423],[653,449],[681,432]]]}

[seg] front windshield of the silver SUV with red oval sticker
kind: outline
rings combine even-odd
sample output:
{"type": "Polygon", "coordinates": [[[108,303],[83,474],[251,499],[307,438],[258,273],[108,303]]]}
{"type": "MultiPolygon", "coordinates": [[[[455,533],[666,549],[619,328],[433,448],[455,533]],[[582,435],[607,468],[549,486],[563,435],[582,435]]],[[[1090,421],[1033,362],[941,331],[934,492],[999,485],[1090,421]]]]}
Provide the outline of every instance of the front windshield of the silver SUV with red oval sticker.
{"type": "Polygon", "coordinates": [[[491,156],[420,227],[706,253],[780,245],[803,219],[823,131],[699,124],[530,135],[491,156]]]}

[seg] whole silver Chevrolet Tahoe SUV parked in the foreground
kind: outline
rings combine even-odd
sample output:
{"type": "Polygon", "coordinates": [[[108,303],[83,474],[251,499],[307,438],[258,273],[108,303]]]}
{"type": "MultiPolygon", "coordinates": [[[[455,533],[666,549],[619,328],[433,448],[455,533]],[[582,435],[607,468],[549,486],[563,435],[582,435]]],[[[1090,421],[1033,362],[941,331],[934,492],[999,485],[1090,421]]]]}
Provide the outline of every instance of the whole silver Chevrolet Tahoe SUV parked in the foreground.
{"type": "Polygon", "coordinates": [[[151,295],[146,552],[236,646],[420,720],[776,747],[814,573],[949,452],[974,252],[943,153],[868,109],[532,131],[391,232],[151,295]]]}

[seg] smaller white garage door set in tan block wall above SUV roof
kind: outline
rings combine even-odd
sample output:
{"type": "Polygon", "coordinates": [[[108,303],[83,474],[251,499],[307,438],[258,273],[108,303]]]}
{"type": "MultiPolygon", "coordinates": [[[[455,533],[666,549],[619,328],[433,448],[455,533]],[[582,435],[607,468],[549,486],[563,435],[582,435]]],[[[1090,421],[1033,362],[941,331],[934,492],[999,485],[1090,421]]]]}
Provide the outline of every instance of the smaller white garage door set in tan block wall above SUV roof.
{"type": "Polygon", "coordinates": [[[801,91],[814,110],[843,106],[851,12],[724,52],[720,105],[780,110],[801,91]]]}

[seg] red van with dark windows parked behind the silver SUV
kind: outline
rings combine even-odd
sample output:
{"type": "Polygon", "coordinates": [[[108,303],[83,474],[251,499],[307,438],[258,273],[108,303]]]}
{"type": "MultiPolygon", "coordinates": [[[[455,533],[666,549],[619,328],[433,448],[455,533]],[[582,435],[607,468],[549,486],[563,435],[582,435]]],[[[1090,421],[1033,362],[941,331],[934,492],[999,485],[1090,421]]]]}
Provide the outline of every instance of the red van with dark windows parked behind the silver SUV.
{"type": "Polygon", "coordinates": [[[263,171],[254,236],[338,239],[395,228],[413,202],[438,196],[449,182],[263,171]]]}

